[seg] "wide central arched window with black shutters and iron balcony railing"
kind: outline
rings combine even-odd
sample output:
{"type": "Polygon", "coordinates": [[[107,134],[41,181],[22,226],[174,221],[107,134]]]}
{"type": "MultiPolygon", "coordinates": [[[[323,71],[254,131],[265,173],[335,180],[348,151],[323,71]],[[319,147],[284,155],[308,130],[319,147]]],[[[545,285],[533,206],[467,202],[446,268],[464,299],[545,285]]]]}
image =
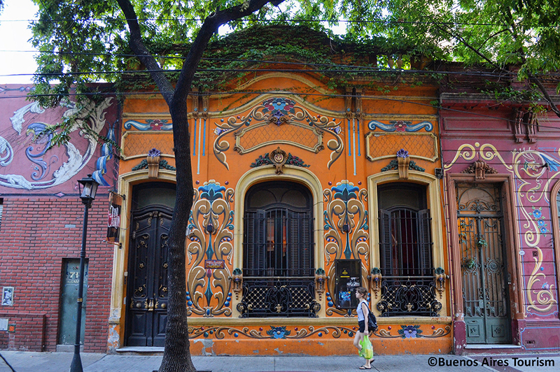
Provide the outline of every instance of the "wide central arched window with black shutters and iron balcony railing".
{"type": "Polygon", "coordinates": [[[245,198],[242,317],[316,316],[313,198],[307,187],[268,181],[245,198]]]}

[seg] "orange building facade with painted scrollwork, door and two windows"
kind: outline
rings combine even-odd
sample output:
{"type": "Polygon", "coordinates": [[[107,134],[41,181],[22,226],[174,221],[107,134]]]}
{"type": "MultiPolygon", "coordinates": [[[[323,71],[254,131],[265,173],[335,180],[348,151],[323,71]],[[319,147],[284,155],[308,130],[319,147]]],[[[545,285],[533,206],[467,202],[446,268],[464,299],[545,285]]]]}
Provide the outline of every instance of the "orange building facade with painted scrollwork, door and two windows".
{"type": "MultiPolygon", "coordinates": [[[[318,73],[255,71],[232,92],[193,92],[193,355],[353,354],[360,285],[375,352],[453,350],[437,86],[418,79],[381,92],[381,81],[330,89],[318,73]]],[[[147,94],[127,96],[122,118],[109,351],[160,350],[173,123],[147,94]]]]}

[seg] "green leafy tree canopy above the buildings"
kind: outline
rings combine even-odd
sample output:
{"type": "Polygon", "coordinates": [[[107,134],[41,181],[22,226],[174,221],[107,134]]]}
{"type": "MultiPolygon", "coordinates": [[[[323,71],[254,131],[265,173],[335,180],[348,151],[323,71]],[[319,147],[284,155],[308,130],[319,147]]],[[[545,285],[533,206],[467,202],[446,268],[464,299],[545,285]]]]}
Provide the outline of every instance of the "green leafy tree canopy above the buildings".
{"type": "MultiPolygon", "coordinates": [[[[45,106],[87,91],[87,83],[116,82],[141,62],[130,49],[130,29],[118,1],[36,0],[39,18],[31,26],[40,51],[36,94],[45,106]],[[52,85],[54,83],[54,85],[52,85]]],[[[181,69],[204,19],[243,0],[131,1],[139,36],[165,71],[181,69]]],[[[328,0],[278,1],[222,27],[223,38],[256,24],[304,25],[346,42],[386,54],[406,52],[442,61],[482,64],[517,73],[537,85],[542,73],[560,67],[560,0],[328,0]],[[512,66],[515,69],[512,71],[512,66]]],[[[384,67],[384,66],[380,66],[384,67]]],[[[386,66],[388,67],[388,66],[386,66]]],[[[169,72],[169,77],[175,79],[169,72]]],[[[540,87],[544,98],[544,87],[540,87]]],[[[560,111],[556,110],[557,114],[560,111]]]]}

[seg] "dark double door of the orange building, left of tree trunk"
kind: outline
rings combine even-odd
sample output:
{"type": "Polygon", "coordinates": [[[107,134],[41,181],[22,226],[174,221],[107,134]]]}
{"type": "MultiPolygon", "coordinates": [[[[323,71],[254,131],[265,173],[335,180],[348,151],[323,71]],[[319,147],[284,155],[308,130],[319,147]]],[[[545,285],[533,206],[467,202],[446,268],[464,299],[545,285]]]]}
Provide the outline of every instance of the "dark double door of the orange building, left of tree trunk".
{"type": "Polygon", "coordinates": [[[164,346],[167,322],[167,243],[172,209],[132,213],[127,282],[128,346],[164,346]]]}

